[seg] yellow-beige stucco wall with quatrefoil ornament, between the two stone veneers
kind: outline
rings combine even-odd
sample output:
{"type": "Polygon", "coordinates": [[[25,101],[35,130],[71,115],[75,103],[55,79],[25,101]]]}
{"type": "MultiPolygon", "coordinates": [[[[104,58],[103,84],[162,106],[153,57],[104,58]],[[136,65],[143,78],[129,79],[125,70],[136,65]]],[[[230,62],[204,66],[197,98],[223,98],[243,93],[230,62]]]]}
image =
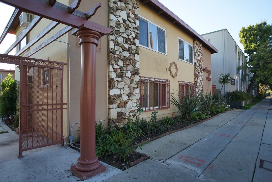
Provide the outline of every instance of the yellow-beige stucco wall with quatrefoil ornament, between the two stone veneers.
{"type": "MultiPolygon", "coordinates": [[[[167,55],[155,52],[140,46],[140,76],[155,77],[170,80],[170,93],[178,93],[178,81],[194,82],[194,65],[178,59],[178,37],[193,46],[193,37],[173,25],[165,17],[158,15],[157,12],[142,2],[139,2],[139,15],[166,29],[166,50],[167,55]],[[170,63],[174,61],[178,67],[178,74],[175,78],[166,70],[170,63]]],[[[150,117],[151,112],[144,112],[141,117],[150,117]]],[[[175,115],[177,108],[170,104],[169,109],[158,111],[158,119],[165,115],[175,115]]]]}

